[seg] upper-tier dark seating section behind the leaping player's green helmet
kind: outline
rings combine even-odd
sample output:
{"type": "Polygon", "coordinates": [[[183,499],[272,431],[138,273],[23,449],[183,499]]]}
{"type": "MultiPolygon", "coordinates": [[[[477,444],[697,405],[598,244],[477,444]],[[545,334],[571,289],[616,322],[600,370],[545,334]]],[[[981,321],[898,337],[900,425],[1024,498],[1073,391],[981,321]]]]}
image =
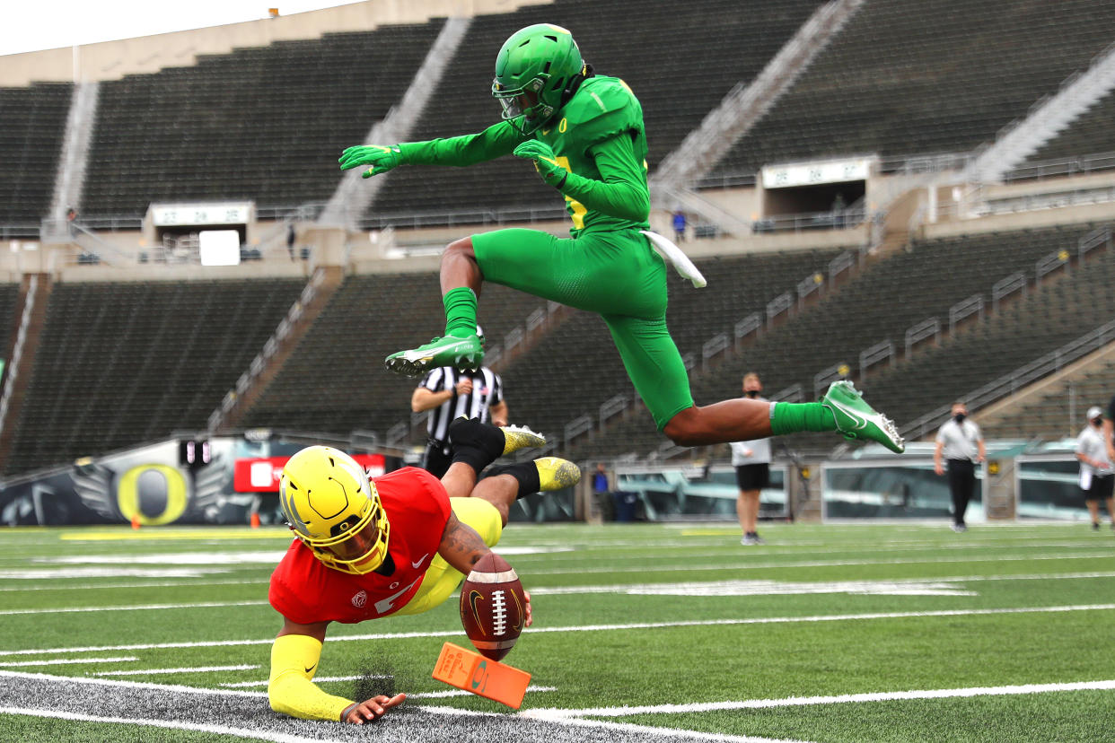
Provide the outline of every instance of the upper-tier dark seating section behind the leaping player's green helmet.
{"type": "MultiPolygon", "coordinates": [[[[653,169],[734,85],[758,74],[818,4],[759,0],[740,12],[738,3],[705,0],[679,12],[653,0],[558,0],[482,16],[411,138],[469,134],[498,121],[500,107],[489,90],[500,46],[524,26],[558,23],[573,32],[584,59],[599,74],[623,78],[634,90],[642,104],[653,169]],[[632,18],[639,19],[637,26],[632,18]]],[[[387,178],[390,187],[368,212],[374,221],[405,219],[413,212],[525,209],[559,198],[529,164],[514,158],[467,172],[400,168],[387,178]]]]}

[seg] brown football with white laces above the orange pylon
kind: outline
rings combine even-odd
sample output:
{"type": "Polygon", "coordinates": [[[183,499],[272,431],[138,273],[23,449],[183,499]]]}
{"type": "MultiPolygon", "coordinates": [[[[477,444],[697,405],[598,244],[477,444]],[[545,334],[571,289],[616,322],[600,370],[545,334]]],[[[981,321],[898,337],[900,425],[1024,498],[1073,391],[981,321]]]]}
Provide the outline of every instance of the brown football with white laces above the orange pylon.
{"type": "Polygon", "coordinates": [[[507,560],[488,553],[460,585],[465,634],[481,655],[498,661],[514,647],[525,619],[523,584],[507,560]]]}

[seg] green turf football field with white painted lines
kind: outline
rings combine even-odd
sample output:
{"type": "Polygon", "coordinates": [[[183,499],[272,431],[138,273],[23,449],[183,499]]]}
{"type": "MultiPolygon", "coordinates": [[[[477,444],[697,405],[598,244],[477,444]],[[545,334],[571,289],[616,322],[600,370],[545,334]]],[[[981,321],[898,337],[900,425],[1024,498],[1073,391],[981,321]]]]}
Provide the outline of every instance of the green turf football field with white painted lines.
{"type": "Polygon", "coordinates": [[[360,730],[268,708],[285,529],[0,531],[0,740],[1115,740],[1106,525],[762,532],[513,524],[522,710],[429,677],[450,600],[331,626],[327,691],[410,695],[360,730]]]}

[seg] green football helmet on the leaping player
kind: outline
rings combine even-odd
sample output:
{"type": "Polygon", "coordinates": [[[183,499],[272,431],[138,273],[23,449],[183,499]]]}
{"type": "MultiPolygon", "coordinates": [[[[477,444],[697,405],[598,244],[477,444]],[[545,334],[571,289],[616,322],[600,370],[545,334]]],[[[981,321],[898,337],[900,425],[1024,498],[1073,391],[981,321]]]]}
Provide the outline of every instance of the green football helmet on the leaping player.
{"type": "Polygon", "coordinates": [[[492,95],[503,118],[531,134],[561,108],[562,96],[585,71],[573,35],[560,26],[535,23],[504,41],[495,58],[492,95]]]}

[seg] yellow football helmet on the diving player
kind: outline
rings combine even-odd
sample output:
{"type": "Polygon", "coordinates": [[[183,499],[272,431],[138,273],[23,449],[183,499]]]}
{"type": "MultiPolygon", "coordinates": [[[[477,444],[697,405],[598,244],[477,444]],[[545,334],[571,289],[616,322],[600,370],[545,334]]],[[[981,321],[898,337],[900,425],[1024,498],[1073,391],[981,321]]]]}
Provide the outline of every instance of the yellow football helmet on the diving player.
{"type": "Polygon", "coordinates": [[[387,514],[363,468],[343,451],[308,447],[291,457],[279,505],[291,530],[327,566],[363,575],[384,564],[387,514]]]}

